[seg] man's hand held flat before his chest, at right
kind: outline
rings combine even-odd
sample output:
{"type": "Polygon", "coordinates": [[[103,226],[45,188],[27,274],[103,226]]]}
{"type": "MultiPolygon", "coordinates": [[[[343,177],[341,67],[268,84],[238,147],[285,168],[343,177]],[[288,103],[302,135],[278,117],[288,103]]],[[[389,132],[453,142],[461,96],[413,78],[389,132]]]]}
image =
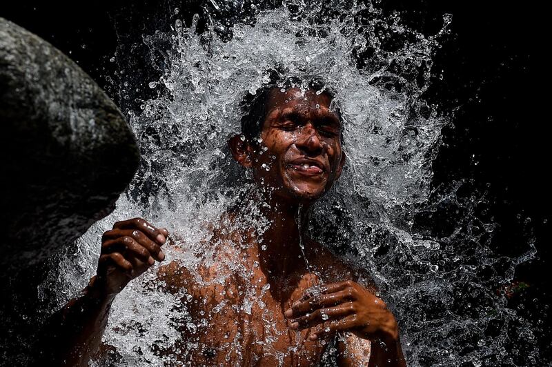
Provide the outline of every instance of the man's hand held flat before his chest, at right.
{"type": "Polygon", "coordinates": [[[351,280],[309,288],[284,315],[292,319],[292,329],[316,327],[311,340],[337,331],[386,344],[399,338],[397,321],[384,301],[351,280]]]}

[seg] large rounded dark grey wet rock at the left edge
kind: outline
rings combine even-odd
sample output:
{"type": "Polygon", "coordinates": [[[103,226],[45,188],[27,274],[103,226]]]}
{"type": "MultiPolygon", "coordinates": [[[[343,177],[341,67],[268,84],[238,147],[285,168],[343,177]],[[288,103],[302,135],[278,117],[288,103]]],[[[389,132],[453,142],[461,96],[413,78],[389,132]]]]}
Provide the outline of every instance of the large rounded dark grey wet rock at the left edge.
{"type": "Polygon", "coordinates": [[[117,106],[83,70],[1,18],[0,117],[7,271],[39,264],[107,215],[139,150],[117,106]]]}

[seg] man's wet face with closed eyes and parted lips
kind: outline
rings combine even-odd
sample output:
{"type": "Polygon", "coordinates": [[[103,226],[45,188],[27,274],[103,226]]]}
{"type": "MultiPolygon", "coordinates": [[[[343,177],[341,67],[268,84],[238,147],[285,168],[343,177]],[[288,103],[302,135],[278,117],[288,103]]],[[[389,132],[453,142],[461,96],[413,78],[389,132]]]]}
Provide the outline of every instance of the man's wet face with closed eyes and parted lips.
{"type": "Polygon", "coordinates": [[[270,91],[253,170],[279,199],[313,201],[341,175],[341,123],[330,102],[313,90],[270,91]]]}

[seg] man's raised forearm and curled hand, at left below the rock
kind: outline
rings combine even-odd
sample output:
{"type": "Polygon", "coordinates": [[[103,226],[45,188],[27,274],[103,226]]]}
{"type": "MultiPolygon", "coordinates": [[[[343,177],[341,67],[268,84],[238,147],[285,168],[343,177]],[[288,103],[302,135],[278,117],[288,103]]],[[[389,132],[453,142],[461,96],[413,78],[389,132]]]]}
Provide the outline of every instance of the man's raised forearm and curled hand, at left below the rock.
{"type": "Polygon", "coordinates": [[[83,290],[52,315],[37,345],[39,360],[48,366],[88,366],[97,353],[115,296],[155,260],[163,261],[161,246],[168,231],[141,218],[119,221],[103,233],[97,275],[83,290]]]}

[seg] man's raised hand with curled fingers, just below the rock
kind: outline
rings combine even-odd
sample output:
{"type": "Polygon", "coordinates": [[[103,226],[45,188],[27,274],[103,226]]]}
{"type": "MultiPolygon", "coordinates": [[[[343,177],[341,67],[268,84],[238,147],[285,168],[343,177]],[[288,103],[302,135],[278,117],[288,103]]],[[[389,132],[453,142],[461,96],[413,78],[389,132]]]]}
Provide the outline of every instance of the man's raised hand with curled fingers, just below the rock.
{"type": "Polygon", "coordinates": [[[155,228],[141,218],[118,221],[101,237],[101,253],[97,279],[106,296],[115,296],[128,284],[155,264],[163,261],[161,246],[168,230],[155,228]]]}

